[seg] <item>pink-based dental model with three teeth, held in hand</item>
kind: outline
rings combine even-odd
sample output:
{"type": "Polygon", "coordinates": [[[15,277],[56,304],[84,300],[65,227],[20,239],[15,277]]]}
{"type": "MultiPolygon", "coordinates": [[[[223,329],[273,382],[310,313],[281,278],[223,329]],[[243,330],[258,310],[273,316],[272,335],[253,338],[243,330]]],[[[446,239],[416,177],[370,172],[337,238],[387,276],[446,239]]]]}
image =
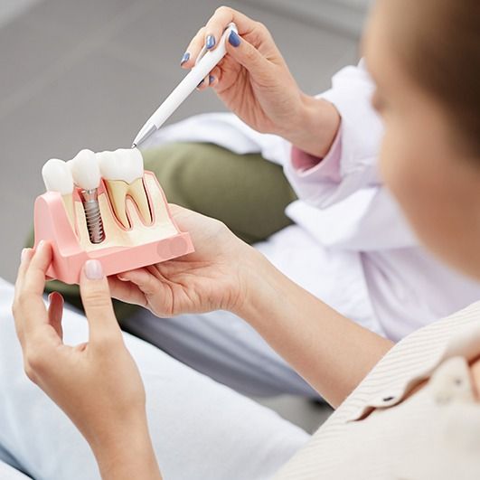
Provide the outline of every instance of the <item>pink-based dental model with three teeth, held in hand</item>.
{"type": "Polygon", "coordinates": [[[52,244],[49,278],[78,283],[88,259],[99,259],[106,275],[115,275],[193,251],[136,148],[51,159],[42,176],[47,193],[35,201],[35,246],[52,244]]]}

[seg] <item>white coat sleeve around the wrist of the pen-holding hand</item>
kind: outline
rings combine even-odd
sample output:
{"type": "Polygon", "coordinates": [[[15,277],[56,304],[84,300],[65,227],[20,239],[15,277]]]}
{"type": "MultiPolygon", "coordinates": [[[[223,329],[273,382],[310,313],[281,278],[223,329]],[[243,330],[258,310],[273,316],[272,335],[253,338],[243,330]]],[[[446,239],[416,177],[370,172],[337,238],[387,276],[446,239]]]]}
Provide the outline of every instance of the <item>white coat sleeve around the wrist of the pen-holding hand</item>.
{"type": "Polygon", "coordinates": [[[373,89],[361,61],[358,67],[336,73],[332,89],[319,95],[334,104],[342,123],[333,151],[318,165],[301,169],[292,161],[286,163],[287,178],[302,200],[325,208],[363,187],[381,184],[377,155],[383,127],[370,103],[373,89]],[[337,174],[332,174],[333,169],[337,174]]]}

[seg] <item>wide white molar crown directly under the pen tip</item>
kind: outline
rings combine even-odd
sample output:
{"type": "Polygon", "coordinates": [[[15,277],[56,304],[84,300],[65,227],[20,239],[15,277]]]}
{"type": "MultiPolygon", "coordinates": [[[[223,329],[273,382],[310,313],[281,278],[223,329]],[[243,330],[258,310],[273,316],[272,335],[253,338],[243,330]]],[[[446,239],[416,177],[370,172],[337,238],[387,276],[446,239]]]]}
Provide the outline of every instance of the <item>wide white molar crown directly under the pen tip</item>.
{"type": "Polygon", "coordinates": [[[144,159],[137,148],[118,148],[97,154],[101,176],[105,180],[123,180],[133,184],[144,176],[144,159]]]}

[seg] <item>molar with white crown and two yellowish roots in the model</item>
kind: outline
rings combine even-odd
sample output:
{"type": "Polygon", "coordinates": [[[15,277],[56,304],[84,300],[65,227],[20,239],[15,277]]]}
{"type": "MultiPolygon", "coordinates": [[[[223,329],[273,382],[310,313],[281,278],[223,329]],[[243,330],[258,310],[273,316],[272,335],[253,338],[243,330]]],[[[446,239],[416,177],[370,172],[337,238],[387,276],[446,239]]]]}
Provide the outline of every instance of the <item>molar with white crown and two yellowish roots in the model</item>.
{"type": "Polygon", "coordinates": [[[118,148],[115,152],[97,154],[101,176],[118,221],[131,227],[127,216],[127,196],[135,202],[146,225],[152,223],[152,212],[143,183],[144,160],[136,148],[118,148]]]}

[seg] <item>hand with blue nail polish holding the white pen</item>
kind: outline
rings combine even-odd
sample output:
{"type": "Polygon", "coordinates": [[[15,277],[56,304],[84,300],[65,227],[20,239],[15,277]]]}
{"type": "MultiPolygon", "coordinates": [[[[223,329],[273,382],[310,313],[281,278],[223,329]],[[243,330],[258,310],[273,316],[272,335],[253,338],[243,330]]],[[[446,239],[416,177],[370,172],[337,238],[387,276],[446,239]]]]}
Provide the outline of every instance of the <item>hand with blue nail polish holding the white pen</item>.
{"type": "Polygon", "coordinates": [[[249,127],[283,136],[311,155],[325,156],[340,125],[334,106],[303,93],[278,52],[268,29],[229,7],[221,6],[194,36],[182,61],[192,68],[204,44],[216,48],[225,27],[234,22],[239,35],[226,41],[227,55],[203,80],[227,108],[249,127]]]}

